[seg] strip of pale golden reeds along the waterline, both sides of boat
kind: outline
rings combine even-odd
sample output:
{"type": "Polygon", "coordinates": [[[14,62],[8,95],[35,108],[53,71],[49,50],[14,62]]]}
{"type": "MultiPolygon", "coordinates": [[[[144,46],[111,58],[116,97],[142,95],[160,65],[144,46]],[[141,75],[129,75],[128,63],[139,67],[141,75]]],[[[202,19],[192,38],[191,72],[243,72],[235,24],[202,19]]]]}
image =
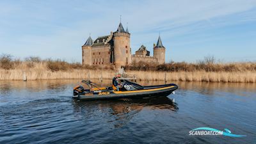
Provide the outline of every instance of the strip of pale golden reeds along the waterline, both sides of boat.
{"type": "MultiPolygon", "coordinates": [[[[31,80],[51,80],[51,79],[112,79],[115,70],[84,70],[73,69],[68,71],[40,70],[31,68],[30,70],[3,70],[0,69],[0,81],[13,80],[23,81],[26,76],[31,80]]],[[[159,71],[138,71],[129,70],[127,74],[134,74],[137,81],[196,81],[196,82],[223,82],[223,83],[255,83],[256,72],[159,72],[159,71]]]]}

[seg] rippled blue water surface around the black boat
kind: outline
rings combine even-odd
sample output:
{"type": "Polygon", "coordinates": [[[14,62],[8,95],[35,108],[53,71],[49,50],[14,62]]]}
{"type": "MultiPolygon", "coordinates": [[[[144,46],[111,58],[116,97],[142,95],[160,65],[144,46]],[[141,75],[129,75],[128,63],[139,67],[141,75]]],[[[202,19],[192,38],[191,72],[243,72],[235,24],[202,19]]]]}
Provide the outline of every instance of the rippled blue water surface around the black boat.
{"type": "Polygon", "coordinates": [[[78,82],[0,81],[0,143],[256,143],[256,84],[176,82],[159,99],[77,102],[78,82]],[[189,136],[197,127],[246,137],[189,136]]]}

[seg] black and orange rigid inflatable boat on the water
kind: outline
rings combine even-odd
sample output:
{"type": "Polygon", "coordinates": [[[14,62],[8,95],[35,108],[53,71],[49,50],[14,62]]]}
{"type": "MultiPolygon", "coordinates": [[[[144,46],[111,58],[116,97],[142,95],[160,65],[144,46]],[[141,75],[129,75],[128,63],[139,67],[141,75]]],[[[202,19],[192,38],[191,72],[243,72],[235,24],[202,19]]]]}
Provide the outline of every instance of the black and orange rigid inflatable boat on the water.
{"type": "Polygon", "coordinates": [[[79,100],[101,100],[101,99],[138,99],[148,97],[164,97],[177,90],[176,84],[163,84],[156,86],[141,86],[137,83],[124,80],[119,87],[119,91],[115,86],[100,87],[90,80],[83,80],[88,88],[79,85],[74,87],[74,99],[79,100]]]}

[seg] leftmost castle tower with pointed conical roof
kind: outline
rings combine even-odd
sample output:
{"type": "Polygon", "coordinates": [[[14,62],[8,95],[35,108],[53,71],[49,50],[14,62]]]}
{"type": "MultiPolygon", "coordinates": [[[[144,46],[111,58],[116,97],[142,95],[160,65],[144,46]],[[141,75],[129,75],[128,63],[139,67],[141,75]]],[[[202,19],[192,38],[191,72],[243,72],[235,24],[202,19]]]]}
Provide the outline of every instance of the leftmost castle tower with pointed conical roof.
{"type": "Polygon", "coordinates": [[[83,65],[92,65],[92,45],[93,40],[91,36],[89,36],[85,44],[82,46],[83,65]]]}

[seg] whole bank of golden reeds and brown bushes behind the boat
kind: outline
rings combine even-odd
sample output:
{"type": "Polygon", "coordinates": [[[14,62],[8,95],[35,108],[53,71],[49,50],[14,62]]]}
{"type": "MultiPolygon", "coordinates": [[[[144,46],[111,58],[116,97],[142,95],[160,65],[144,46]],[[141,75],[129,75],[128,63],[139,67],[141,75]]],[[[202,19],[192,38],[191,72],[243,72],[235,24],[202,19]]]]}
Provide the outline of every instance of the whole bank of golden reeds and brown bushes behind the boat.
{"type": "MultiPolygon", "coordinates": [[[[0,57],[0,80],[38,79],[112,79],[116,74],[113,67],[90,67],[80,63],[61,60],[41,60],[29,57],[24,61],[10,55],[0,57]]],[[[207,60],[197,63],[132,63],[125,67],[128,74],[138,80],[207,81],[207,82],[256,82],[256,63],[215,63],[207,60]]]]}

